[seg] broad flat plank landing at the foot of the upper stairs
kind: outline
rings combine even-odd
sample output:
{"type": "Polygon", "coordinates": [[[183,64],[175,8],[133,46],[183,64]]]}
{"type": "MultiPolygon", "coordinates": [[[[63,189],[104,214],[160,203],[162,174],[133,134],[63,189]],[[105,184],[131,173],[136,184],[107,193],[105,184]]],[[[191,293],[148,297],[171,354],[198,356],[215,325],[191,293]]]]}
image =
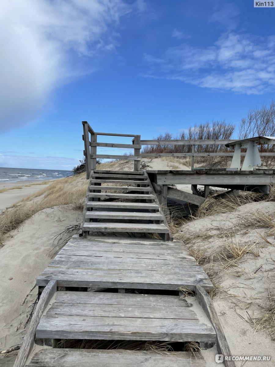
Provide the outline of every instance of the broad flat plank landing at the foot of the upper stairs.
{"type": "Polygon", "coordinates": [[[109,236],[73,236],[38,277],[37,285],[45,286],[49,280],[57,280],[59,287],[213,288],[182,243],[109,236]]]}

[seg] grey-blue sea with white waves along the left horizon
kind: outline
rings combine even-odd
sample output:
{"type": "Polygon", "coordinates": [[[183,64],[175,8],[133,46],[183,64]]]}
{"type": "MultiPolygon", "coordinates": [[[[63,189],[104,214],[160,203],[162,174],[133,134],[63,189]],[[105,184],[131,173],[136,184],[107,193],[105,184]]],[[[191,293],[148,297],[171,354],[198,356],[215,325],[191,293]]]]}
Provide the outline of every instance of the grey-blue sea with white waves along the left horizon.
{"type": "Polygon", "coordinates": [[[71,175],[73,175],[73,171],[0,167],[0,182],[2,183],[28,180],[52,180],[71,175]]]}

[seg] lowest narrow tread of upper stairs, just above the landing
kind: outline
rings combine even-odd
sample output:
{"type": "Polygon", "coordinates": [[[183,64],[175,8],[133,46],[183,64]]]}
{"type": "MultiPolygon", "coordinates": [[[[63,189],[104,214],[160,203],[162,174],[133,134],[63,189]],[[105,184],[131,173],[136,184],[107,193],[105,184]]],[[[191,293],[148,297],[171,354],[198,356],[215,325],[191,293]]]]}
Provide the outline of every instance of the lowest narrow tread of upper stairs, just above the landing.
{"type": "Polygon", "coordinates": [[[164,224],[85,222],[83,226],[83,231],[169,233],[169,228],[167,228],[164,224]]]}

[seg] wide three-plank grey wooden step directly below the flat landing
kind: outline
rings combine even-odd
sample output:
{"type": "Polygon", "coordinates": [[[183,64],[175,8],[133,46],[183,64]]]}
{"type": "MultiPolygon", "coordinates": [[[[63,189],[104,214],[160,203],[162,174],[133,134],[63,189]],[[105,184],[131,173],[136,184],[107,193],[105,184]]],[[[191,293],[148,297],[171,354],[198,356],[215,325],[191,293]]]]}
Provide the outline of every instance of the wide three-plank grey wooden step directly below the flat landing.
{"type": "Polygon", "coordinates": [[[146,295],[140,294],[131,294],[127,302],[123,302],[125,294],[119,294],[121,304],[116,305],[115,293],[104,292],[104,301],[98,303],[95,299],[102,299],[100,292],[77,292],[77,297],[85,293],[85,303],[75,302],[76,292],[67,292],[64,302],[62,293],[56,293],[54,304],[41,318],[36,338],[216,341],[206,316],[197,316],[192,308],[182,307],[178,296],[174,296],[173,306],[167,302],[164,306],[165,296],[156,295],[155,304],[150,306],[144,305],[146,295]]]}

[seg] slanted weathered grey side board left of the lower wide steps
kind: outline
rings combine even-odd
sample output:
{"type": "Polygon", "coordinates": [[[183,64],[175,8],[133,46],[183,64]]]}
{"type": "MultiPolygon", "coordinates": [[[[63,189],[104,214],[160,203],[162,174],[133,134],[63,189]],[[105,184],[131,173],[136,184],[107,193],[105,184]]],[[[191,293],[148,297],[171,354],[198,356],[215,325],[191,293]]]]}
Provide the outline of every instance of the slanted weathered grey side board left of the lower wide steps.
{"type": "Polygon", "coordinates": [[[51,280],[44,288],[36,309],[33,313],[33,317],[30,321],[29,328],[19,350],[18,356],[15,360],[14,367],[23,367],[25,366],[27,357],[29,356],[30,351],[33,348],[34,344],[34,334],[36,331],[36,327],[40,321],[42,313],[44,312],[45,308],[47,307],[49,301],[51,301],[52,296],[56,292],[56,280],[51,280]]]}

